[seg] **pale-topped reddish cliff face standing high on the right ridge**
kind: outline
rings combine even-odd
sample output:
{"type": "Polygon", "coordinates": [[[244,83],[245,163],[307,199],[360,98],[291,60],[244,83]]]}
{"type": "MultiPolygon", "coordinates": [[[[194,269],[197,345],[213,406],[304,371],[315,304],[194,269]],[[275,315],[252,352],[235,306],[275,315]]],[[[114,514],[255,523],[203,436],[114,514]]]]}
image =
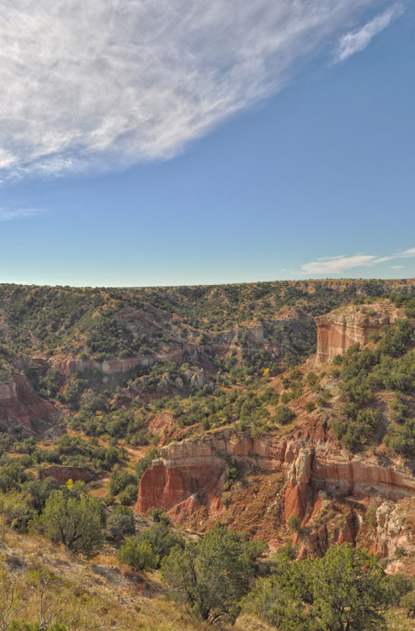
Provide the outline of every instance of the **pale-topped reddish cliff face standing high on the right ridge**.
{"type": "Polygon", "coordinates": [[[353,344],[365,346],[372,333],[380,333],[385,324],[396,320],[398,312],[387,301],[369,306],[351,305],[320,315],[317,324],[317,364],[344,354],[353,344]]]}

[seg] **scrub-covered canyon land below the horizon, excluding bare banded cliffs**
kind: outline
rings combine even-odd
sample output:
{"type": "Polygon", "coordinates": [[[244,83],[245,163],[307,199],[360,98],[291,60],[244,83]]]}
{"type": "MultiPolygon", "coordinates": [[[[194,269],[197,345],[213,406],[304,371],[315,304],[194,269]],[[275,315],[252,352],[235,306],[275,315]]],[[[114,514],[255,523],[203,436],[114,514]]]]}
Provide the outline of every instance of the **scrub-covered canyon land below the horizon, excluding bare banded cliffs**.
{"type": "MultiPolygon", "coordinates": [[[[0,630],[411,628],[411,581],[367,556],[378,526],[369,500],[353,506],[364,515],[360,547],[329,547],[322,559],[304,558],[320,513],[284,522],[281,475],[235,458],[221,523],[205,509],[181,527],[160,509],[133,509],[163,446],[225,429],[257,439],[324,428],[350,459],[410,470],[414,348],[409,281],[1,285],[0,598],[11,613],[0,630]],[[347,304],[366,313],[378,300],[394,302],[396,323],[316,366],[314,317],[347,304]]],[[[327,532],[343,504],[324,513],[327,532]]],[[[399,567],[412,575],[411,554],[399,567]]]]}

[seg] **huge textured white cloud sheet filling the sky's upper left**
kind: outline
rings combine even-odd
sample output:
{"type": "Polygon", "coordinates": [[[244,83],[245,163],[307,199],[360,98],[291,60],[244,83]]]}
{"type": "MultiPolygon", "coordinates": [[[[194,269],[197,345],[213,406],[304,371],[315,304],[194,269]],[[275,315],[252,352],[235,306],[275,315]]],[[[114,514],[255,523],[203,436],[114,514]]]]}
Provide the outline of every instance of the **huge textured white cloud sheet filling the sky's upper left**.
{"type": "Polygon", "coordinates": [[[380,0],[0,4],[0,169],[165,158],[286,84],[380,0]]]}

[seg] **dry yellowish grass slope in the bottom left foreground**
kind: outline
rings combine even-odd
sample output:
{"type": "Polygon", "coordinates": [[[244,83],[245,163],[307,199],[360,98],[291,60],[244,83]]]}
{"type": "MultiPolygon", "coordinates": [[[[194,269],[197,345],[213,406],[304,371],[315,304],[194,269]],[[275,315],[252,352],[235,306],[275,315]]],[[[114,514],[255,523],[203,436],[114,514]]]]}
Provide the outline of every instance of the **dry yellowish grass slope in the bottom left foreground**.
{"type": "MultiPolygon", "coordinates": [[[[234,627],[196,622],[166,598],[157,572],[138,576],[122,571],[113,554],[101,553],[85,560],[39,536],[19,535],[6,527],[1,528],[0,540],[3,563],[23,571],[19,593],[24,594],[26,606],[21,621],[38,620],[33,570],[40,569],[52,577],[48,592],[51,607],[58,607],[69,596],[62,614],[67,631],[84,631],[91,625],[91,630],[104,631],[273,631],[248,614],[239,616],[234,627]]],[[[407,620],[400,610],[389,612],[388,631],[404,630],[415,631],[415,621],[407,620]]]]}

